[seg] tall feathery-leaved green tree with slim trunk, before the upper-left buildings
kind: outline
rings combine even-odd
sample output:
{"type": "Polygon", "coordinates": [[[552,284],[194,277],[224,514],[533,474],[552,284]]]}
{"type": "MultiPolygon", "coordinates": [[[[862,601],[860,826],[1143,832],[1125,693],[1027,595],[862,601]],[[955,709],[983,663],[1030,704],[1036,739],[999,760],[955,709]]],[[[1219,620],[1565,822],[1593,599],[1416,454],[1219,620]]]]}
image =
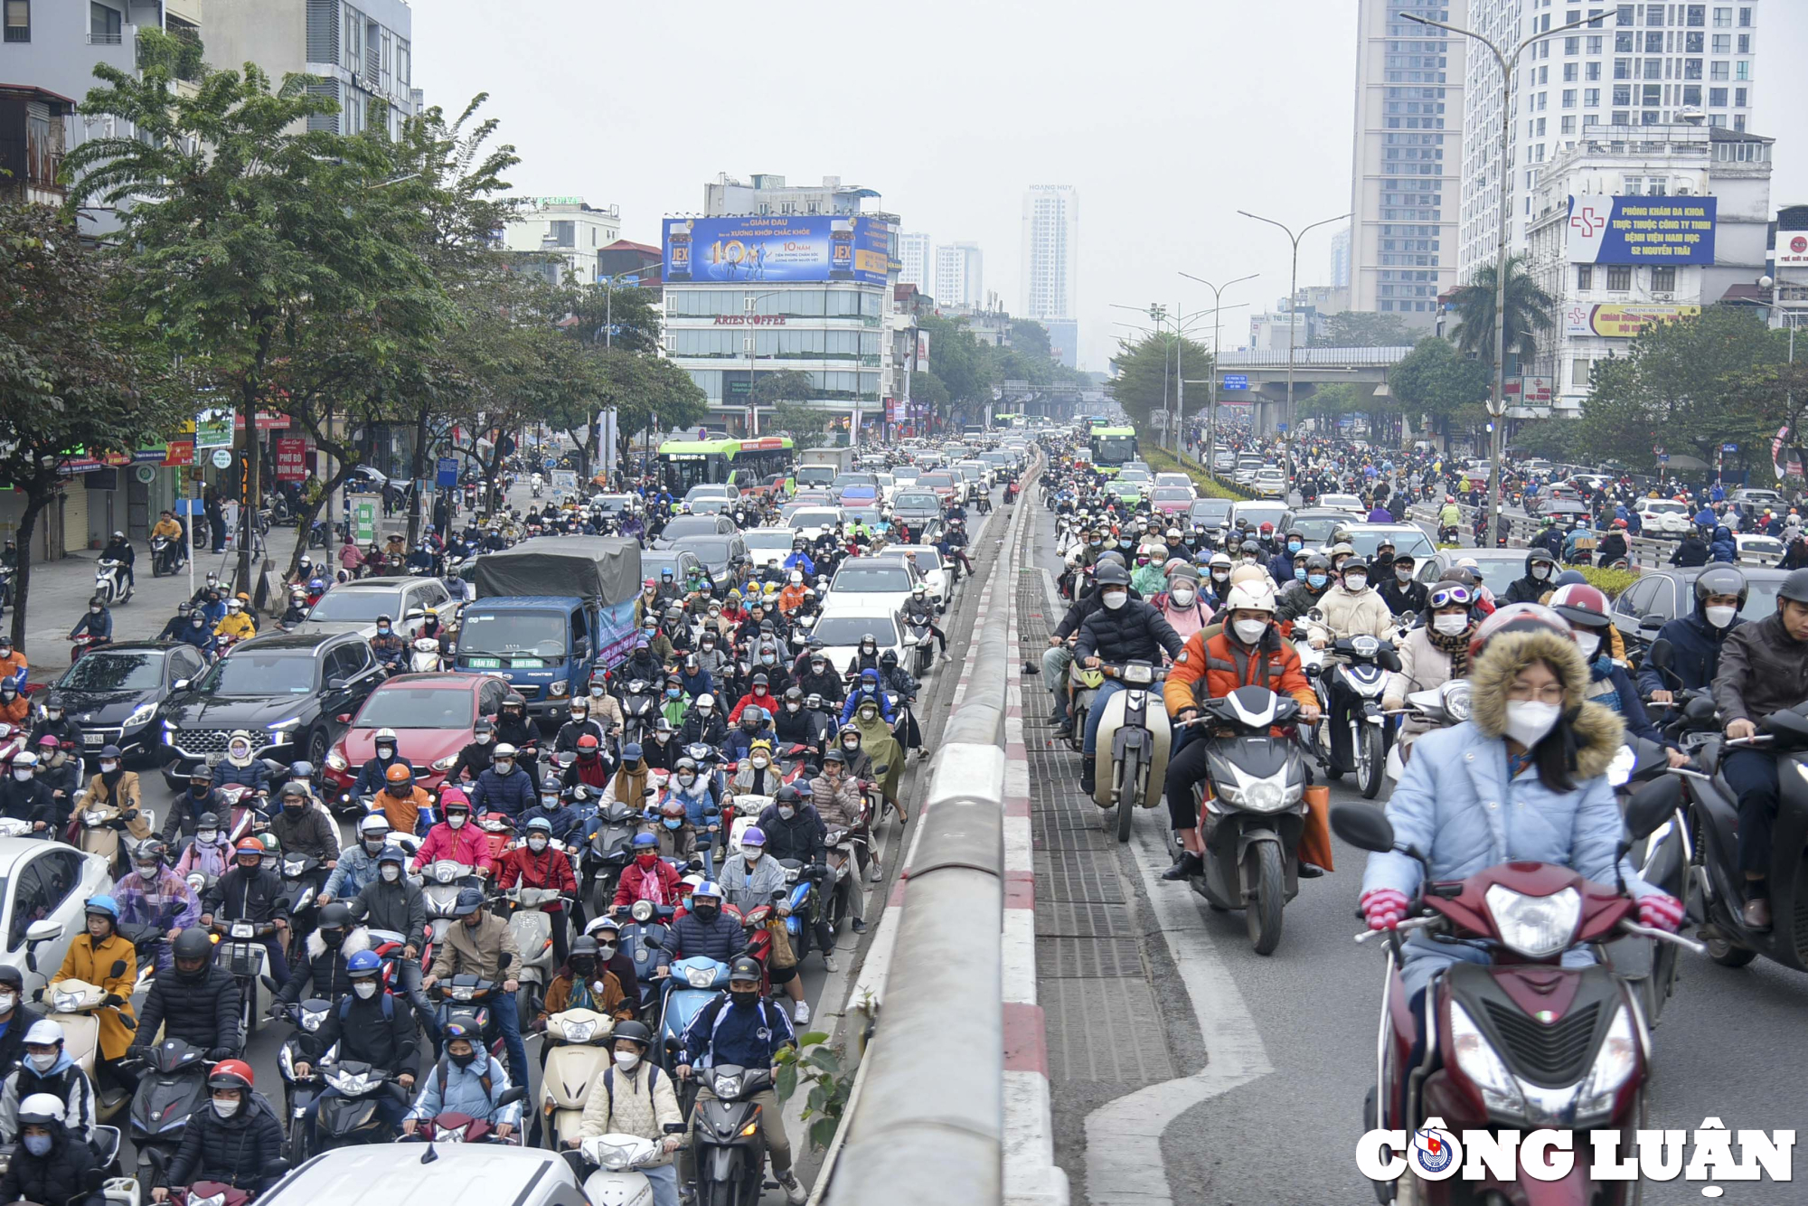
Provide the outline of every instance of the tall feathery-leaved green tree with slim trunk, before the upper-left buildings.
{"type": "MultiPolygon", "coordinates": [[[[306,130],[334,110],[306,76],[273,90],[246,63],[177,89],[181,54],[177,38],[146,29],[139,74],[96,67],[105,87],[89,90],[83,112],[118,118],[132,134],[80,145],[63,170],[76,181],[71,204],[119,206],[118,280],[145,329],[183,356],[197,383],[233,400],[250,519],[262,501],[257,412],[275,398],[284,334],[369,313],[427,269],[398,239],[410,219],[387,195],[381,139],[306,130]]],[[[251,573],[251,541],[242,541],[240,589],[251,573]]]]}

